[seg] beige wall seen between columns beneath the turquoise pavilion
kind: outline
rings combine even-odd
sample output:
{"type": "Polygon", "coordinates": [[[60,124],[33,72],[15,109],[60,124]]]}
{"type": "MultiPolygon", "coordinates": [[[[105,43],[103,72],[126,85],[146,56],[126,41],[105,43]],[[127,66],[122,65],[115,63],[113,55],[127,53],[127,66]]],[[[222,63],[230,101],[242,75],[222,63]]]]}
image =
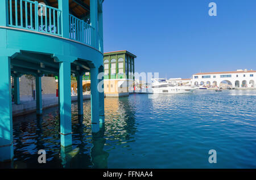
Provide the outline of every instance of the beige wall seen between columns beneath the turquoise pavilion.
{"type": "MultiPolygon", "coordinates": [[[[20,95],[32,95],[31,90],[31,80],[28,80],[26,76],[20,77],[20,95]]],[[[34,90],[35,90],[35,79],[33,80],[34,90]]],[[[54,77],[42,77],[42,94],[55,94],[57,89],[57,83],[54,77]]]]}

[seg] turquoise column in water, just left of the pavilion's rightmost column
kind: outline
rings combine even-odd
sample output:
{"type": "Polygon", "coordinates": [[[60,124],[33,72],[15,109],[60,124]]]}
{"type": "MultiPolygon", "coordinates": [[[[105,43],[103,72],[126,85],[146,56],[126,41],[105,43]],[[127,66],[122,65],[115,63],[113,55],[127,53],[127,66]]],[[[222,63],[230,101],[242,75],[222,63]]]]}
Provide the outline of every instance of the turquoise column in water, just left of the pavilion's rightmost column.
{"type": "Polygon", "coordinates": [[[91,118],[92,118],[92,132],[98,132],[100,130],[99,121],[99,93],[97,89],[98,85],[98,68],[90,68],[90,108],[91,108],[91,118]]]}

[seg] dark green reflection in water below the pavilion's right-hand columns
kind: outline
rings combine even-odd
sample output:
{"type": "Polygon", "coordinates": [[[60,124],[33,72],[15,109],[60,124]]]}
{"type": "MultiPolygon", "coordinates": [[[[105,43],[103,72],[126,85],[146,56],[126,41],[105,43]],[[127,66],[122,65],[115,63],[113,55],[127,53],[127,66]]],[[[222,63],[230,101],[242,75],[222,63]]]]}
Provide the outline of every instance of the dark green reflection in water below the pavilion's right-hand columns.
{"type": "Polygon", "coordinates": [[[104,138],[105,125],[102,124],[100,131],[92,134],[93,147],[90,150],[90,157],[92,159],[92,168],[106,169],[108,168],[109,153],[104,151],[104,144],[106,139],[104,138]]]}

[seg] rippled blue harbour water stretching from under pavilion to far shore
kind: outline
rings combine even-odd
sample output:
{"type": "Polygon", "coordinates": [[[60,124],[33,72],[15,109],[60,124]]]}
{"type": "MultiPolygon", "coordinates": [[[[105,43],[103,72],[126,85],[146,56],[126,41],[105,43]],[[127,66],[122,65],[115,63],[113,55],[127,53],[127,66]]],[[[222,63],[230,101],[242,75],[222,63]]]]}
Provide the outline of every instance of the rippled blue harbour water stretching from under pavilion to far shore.
{"type": "Polygon", "coordinates": [[[92,134],[72,104],[72,148],[60,147],[58,108],[14,118],[13,168],[256,168],[256,91],[105,98],[105,126],[92,134]],[[150,97],[150,98],[148,98],[150,97]],[[47,163],[38,163],[45,149],[47,163]],[[208,151],[217,151],[209,164],[208,151]]]}

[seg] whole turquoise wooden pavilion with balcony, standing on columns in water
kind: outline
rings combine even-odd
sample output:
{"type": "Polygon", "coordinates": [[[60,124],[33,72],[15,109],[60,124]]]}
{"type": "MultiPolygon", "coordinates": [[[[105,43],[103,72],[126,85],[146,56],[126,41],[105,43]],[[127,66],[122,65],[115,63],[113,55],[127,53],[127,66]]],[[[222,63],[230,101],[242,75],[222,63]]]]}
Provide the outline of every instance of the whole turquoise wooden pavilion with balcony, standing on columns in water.
{"type": "Polygon", "coordinates": [[[0,1],[0,162],[13,159],[10,77],[19,104],[19,76],[36,77],[36,109],[42,114],[41,77],[59,78],[61,146],[72,145],[71,74],[78,84],[78,112],[83,114],[82,76],[91,75],[92,132],[104,123],[103,0],[0,1]],[[102,83],[103,84],[103,83],[102,83]]]}

